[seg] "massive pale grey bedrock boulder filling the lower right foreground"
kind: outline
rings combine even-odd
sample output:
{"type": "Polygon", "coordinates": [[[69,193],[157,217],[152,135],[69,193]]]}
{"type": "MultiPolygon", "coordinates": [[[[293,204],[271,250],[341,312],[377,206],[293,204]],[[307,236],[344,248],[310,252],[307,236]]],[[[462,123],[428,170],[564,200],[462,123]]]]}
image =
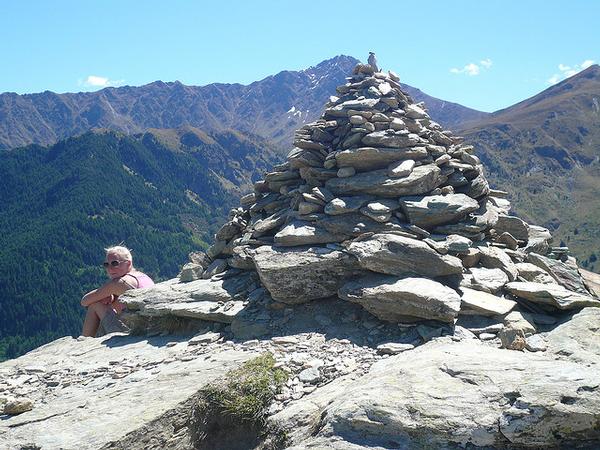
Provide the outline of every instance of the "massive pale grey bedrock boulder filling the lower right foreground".
{"type": "MultiPolygon", "coordinates": [[[[376,363],[336,394],[331,395],[336,386],[330,386],[322,415],[310,409],[303,420],[296,416],[295,423],[319,427],[312,435],[295,436],[295,448],[593,443],[599,435],[600,393],[590,387],[596,385],[597,369],[583,364],[475,340],[438,340],[376,363]]],[[[314,402],[308,396],[298,408],[314,402]]]]}

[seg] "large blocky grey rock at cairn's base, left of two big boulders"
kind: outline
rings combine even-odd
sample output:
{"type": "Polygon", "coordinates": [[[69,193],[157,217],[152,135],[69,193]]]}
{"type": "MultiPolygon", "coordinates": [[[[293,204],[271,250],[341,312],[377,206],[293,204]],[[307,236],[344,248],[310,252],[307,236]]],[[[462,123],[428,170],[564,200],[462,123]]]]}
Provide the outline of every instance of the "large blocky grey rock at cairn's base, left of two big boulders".
{"type": "Polygon", "coordinates": [[[253,257],[262,284],[274,300],[304,303],[336,295],[359,272],[356,259],[322,247],[259,247],[253,257]]]}

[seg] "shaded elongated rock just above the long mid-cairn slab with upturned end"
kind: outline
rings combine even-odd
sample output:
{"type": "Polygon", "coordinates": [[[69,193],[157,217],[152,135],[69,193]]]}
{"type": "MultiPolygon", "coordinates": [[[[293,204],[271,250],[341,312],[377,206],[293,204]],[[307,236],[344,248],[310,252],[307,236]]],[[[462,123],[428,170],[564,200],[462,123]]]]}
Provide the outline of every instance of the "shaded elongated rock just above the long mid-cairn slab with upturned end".
{"type": "Polygon", "coordinates": [[[343,150],[335,154],[338,167],[354,167],[359,171],[383,169],[390,163],[397,161],[423,159],[426,157],[427,149],[425,147],[409,147],[403,149],[387,147],[359,147],[355,149],[343,150]]]}

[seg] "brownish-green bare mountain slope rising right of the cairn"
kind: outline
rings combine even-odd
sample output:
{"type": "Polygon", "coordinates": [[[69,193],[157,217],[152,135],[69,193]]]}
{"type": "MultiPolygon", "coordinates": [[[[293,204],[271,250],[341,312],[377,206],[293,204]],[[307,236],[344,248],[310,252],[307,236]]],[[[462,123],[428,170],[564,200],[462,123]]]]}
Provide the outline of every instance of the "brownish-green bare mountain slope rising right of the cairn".
{"type": "Polygon", "coordinates": [[[600,250],[600,67],[458,127],[519,215],[594,270],[600,250]],[[560,242],[557,242],[559,244],[560,242]]]}

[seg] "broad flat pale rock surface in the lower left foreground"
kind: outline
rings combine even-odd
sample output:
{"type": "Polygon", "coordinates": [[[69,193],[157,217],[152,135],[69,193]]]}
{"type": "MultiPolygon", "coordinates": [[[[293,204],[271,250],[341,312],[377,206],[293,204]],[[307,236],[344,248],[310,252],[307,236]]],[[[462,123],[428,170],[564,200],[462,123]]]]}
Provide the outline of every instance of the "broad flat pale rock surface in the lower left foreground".
{"type": "Polygon", "coordinates": [[[199,390],[258,356],[222,349],[206,359],[185,341],[166,346],[172,339],[66,337],[0,364],[2,380],[21,380],[33,400],[31,411],[0,420],[0,448],[108,447],[169,411],[190,410],[199,390]],[[44,373],[22,381],[34,365],[44,373]]]}

